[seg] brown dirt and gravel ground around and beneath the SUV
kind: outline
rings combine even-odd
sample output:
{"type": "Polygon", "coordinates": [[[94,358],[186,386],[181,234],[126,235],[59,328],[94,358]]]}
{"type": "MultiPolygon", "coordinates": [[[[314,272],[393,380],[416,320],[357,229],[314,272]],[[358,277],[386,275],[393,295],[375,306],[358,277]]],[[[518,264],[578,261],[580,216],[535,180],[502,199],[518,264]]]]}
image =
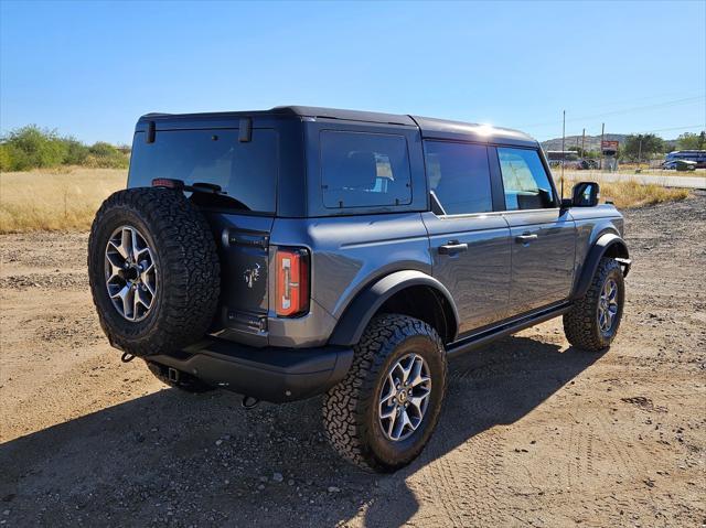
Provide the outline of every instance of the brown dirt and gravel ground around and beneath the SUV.
{"type": "Polygon", "coordinates": [[[627,213],[620,335],[560,321],[451,363],[439,428],[394,475],[341,461],[320,398],[240,408],[124,365],[86,234],[0,237],[4,526],[703,526],[706,195],[627,213]]]}

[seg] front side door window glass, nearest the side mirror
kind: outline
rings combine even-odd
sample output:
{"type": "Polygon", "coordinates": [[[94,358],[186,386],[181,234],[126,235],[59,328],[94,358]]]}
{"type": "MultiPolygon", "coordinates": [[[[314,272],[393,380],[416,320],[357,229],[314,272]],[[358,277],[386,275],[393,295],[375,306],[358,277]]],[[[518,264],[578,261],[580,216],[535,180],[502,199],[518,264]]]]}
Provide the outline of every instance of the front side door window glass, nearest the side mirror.
{"type": "Polygon", "coordinates": [[[499,147],[498,158],[509,211],[557,206],[549,176],[536,150],[499,147]]]}

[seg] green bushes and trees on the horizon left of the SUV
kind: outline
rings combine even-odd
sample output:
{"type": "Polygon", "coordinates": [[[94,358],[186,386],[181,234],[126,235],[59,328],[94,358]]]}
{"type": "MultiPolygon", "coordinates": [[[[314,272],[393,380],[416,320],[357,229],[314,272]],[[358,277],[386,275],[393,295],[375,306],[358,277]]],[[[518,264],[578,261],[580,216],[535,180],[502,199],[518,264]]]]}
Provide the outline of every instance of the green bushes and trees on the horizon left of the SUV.
{"type": "Polygon", "coordinates": [[[87,146],[35,125],[0,138],[0,171],[6,172],[60,165],[126,169],[129,161],[129,149],[104,141],[87,146]]]}

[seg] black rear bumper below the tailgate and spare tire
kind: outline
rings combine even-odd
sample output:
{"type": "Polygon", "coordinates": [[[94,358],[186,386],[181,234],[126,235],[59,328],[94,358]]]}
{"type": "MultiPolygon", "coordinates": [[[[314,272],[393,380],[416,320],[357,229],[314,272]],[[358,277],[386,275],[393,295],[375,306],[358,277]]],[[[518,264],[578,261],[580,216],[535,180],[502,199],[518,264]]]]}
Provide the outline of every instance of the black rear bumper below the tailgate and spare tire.
{"type": "Polygon", "coordinates": [[[216,387],[280,403],[333,387],[349,371],[353,349],[255,348],[214,338],[169,355],[149,356],[149,360],[216,387]]]}

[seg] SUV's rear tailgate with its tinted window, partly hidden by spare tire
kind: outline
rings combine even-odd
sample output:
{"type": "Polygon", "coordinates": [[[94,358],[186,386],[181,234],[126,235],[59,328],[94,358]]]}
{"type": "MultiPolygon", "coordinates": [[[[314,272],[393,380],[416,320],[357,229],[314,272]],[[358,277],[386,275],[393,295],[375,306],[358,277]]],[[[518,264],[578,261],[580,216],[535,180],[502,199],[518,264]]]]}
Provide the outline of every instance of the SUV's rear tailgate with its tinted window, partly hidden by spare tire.
{"type": "Polygon", "coordinates": [[[278,132],[253,127],[249,134],[240,134],[238,128],[175,125],[158,122],[152,141],[145,132],[136,133],[128,186],[149,186],[152,179],[218,186],[217,193],[188,193],[206,215],[221,257],[221,311],[213,330],[236,332],[242,341],[265,345],[278,132]]]}

